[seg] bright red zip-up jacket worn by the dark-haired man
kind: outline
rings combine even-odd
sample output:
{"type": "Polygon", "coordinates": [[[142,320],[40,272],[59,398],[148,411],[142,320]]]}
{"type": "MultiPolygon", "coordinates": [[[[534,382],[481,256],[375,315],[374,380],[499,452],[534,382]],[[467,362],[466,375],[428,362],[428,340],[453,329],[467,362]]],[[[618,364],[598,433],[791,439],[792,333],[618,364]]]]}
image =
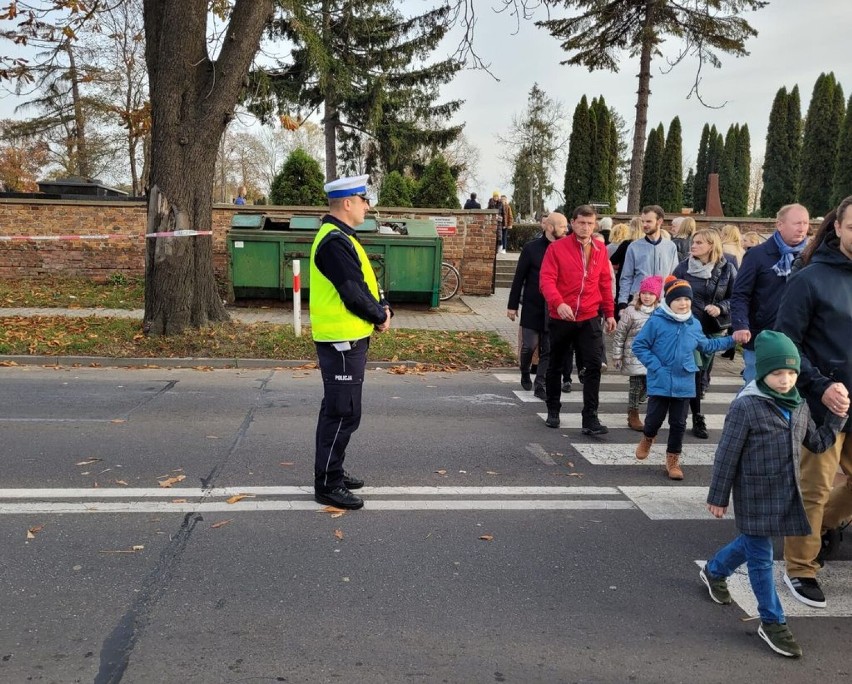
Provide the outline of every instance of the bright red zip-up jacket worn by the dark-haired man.
{"type": "Polygon", "coordinates": [[[583,246],[573,233],[547,248],[541,264],[539,287],[551,318],[559,318],[556,309],[562,303],[571,307],[577,321],[595,318],[600,309],[603,309],[606,318],[615,316],[606,245],[592,238],[589,263],[585,261],[583,246]]]}

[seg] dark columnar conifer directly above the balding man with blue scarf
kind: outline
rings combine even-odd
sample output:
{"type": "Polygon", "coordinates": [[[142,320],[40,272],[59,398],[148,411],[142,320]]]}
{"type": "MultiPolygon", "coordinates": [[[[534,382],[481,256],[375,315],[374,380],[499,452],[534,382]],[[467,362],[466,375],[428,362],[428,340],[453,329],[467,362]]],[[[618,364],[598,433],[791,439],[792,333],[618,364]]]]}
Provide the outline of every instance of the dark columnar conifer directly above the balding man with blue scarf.
{"type": "MultiPolygon", "coordinates": [[[[796,90],[798,94],[798,90],[796,90]]],[[[795,173],[791,143],[796,137],[795,106],[787,88],[781,88],[772,101],[769,127],[766,130],[766,156],[763,161],[763,189],[760,212],[772,217],[796,197],[798,174],[795,173]]],[[[799,120],[801,123],[801,119],[799,120]]]]}

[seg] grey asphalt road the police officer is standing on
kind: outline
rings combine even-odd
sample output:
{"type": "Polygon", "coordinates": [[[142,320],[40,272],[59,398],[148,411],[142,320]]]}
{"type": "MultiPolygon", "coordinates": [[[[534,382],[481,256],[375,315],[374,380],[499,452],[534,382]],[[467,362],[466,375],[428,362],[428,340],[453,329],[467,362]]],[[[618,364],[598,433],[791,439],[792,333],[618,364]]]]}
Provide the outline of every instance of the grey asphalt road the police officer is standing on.
{"type": "Polygon", "coordinates": [[[791,617],[790,661],[710,602],[735,529],[696,505],[698,440],[682,485],[593,462],[636,433],[550,430],[517,389],[370,371],[367,506],[334,518],[316,371],[0,368],[0,681],[848,681],[852,613],[791,617]]]}

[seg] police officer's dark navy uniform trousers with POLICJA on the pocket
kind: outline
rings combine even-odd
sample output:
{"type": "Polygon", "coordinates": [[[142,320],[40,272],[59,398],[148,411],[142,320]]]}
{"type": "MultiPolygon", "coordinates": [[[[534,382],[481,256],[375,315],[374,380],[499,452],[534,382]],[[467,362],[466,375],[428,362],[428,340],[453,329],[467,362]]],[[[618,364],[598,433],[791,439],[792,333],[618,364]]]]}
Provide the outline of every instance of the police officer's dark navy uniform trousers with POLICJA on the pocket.
{"type": "Polygon", "coordinates": [[[314,487],[343,486],[343,459],[352,433],[361,423],[361,389],[370,338],[338,351],[331,342],[316,342],[322,372],[323,399],[317,420],[314,487]]]}

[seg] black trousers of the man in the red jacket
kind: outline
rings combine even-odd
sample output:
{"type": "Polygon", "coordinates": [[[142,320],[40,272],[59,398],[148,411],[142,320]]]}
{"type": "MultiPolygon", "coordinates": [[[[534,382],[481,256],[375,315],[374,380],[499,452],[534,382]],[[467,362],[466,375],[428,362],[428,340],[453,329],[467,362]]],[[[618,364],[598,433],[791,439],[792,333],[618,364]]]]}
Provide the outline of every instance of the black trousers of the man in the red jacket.
{"type": "Polygon", "coordinates": [[[566,354],[576,350],[583,359],[583,426],[594,422],[601,387],[601,339],[603,331],[597,316],[587,321],[550,319],[550,365],[547,368],[547,408],[562,408],[562,367],[566,354]]]}

